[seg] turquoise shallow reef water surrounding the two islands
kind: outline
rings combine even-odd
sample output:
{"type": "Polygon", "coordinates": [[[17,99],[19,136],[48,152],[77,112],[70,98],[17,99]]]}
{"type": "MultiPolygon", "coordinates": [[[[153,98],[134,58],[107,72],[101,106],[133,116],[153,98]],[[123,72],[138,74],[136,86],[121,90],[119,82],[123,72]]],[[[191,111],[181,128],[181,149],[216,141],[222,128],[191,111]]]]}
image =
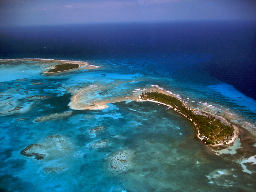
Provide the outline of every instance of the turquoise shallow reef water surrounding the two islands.
{"type": "Polygon", "coordinates": [[[202,73],[196,68],[202,57],[166,56],[168,59],[157,55],[128,59],[102,56],[88,61],[101,66],[97,69],[53,75],[42,73],[49,66],[44,61],[1,61],[1,188],[254,191],[255,170],[248,166],[251,173],[246,172],[234,151],[217,155],[196,138],[196,128],[184,116],[157,103],[131,101],[138,94],[134,90],[157,84],[194,108],[236,114],[234,121],[248,122],[250,129],[255,128],[255,100],[202,73]],[[173,70],[163,68],[167,60],[173,70]],[[190,70],[185,70],[185,64],[190,70]],[[103,110],[69,109],[72,94],[92,85],[100,89],[88,94],[89,99],[129,98],[108,103],[103,110]],[[22,108],[13,110],[17,106],[22,108]],[[34,122],[37,117],[66,111],[72,114],[34,122]],[[98,126],[102,129],[91,134],[98,126]],[[90,147],[101,141],[105,142],[101,147],[90,147]],[[40,145],[34,153],[46,154],[44,159],[20,154],[31,144],[40,145]],[[124,171],[116,172],[111,160],[120,151],[127,154],[121,159],[124,171]]]}

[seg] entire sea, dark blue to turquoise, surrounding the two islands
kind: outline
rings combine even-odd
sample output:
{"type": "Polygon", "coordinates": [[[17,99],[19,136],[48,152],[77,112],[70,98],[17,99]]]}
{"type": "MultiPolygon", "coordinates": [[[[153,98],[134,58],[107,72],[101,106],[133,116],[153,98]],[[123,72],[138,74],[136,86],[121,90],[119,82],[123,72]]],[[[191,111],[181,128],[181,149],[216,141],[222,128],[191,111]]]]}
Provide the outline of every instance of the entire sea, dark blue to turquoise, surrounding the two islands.
{"type": "Polygon", "coordinates": [[[157,85],[255,135],[255,52],[249,21],[1,28],[0,59],[100,66],[49,75],[47,60],[0,60],[1,191],[255,191],[255,143],[246,155],[240,137],[216,152],[184,116],[130,99],[157,85]],[[109,107],[70,109],[72,95],[86,88],[85,99],[109,107]],[[105,146],[90,147],[101,141],[105,146]],[[44,159],[20,154],[31,144],[44,159]],[[113,171],[121,153],[125,170],[113,171]]]}

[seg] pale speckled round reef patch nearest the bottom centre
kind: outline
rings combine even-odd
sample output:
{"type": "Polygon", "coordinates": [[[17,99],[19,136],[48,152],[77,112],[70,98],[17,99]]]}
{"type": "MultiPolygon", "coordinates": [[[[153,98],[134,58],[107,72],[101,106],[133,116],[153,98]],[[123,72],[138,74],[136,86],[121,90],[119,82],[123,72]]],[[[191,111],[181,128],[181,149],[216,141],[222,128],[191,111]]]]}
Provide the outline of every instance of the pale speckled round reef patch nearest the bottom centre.
{"type": "Polygon", "coordinates": [[[109,157],[109,169],[114,172],[124,172],[131,166],[131,152],[127,150],[118,151],[109,157]]]}

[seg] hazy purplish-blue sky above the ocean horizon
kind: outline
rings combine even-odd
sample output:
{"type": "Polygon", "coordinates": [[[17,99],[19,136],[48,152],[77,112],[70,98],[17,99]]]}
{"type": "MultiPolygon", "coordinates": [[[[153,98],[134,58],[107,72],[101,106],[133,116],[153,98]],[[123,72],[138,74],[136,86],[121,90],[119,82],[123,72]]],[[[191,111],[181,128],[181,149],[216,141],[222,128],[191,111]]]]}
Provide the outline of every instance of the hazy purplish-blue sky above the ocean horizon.
{"type": "Polygon", "coordinates": [[[255,20],[256,0],[0,0],[0,26],[255,20]]]}

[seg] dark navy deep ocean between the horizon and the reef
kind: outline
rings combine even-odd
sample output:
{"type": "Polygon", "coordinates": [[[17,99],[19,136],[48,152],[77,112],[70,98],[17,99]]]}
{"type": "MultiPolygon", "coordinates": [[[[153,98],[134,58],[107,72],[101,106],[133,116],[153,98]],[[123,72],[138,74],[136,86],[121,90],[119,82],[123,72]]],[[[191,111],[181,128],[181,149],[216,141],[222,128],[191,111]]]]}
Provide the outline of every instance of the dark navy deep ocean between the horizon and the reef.
{"type": "Polygon", "coordinates": [[[19,27],[1,29],[0,57],[95,60],[154,55],[169,72],[176,70],[168,59],[172,54],[191,54],[201,60],[189,68],[256,99],[255,33],[255,22],[244,21],[19,27]]]}

